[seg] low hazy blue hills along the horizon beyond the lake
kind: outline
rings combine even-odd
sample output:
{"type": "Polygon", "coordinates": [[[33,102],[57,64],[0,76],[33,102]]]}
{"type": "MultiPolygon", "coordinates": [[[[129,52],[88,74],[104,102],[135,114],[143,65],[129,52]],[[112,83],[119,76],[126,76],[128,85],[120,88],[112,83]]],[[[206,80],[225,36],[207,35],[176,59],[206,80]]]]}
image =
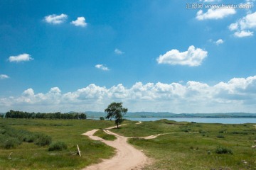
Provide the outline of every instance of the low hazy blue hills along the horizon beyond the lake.
{"type": "MultiPolygon", "coordinates": [[[[104,112],[86,111],[87,118],[105,117],[104,112]]],[[[169,112],[129,112],[124,118],[256,118],[256,113],[169,113],[169,112]]]]}

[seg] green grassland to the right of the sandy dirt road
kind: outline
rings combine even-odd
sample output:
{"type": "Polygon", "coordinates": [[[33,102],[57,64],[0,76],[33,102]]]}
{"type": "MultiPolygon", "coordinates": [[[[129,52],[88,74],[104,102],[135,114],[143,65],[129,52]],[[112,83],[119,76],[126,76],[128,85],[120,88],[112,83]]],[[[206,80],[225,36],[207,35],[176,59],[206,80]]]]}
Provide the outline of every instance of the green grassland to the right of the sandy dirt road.
{"type": "Polygon", "coordinates": [[[223,125],[143,122],[114,129],[133,137],[129,142],[144,150],[154,163],[145,169],[256,169],[256,128],[252,124],[223,125]],[[139,137],[166,133],[152,140],[139,137]]]}

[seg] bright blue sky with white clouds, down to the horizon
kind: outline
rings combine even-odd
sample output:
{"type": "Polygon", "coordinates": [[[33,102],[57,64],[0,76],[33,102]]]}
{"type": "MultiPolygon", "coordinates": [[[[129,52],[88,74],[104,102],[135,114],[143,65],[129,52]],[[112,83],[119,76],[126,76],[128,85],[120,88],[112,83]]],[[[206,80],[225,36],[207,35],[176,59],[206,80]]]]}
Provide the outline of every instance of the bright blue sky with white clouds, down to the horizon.
{"type": "Polygon", "coordinates": [[[255,4],[1,1],[0,112],[256,113],[255,4]]]}

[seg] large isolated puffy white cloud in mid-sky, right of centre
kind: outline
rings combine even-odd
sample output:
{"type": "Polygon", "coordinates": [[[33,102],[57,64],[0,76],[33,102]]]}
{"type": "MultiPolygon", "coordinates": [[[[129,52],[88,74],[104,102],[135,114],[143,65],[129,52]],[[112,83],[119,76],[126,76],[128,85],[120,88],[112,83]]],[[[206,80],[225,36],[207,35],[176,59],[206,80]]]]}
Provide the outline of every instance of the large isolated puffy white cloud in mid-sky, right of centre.
{"type": "Polygon", "coordinates": [[[207,51],[201,48],[195,48],[191,45],[185,52],[179,52],[176,49],[166,52],[166,54],[160,55],[156,61],[159,64],[179,64],[195,67],[201,65],[203,60],[207,57],[207,53],[207,51]]]}

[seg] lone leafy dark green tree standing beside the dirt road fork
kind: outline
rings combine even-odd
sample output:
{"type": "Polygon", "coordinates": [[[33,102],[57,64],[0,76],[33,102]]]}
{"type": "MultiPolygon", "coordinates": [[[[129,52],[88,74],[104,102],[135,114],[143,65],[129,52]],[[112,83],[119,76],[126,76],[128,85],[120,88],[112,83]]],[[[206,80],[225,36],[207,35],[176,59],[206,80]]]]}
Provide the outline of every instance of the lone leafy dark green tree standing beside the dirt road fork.
{"type": "Polygon", "coordinates": [[[105,113],[107,113],[106,118],[112,120],[112,118],[115,119],[115,124],[118,125],[121,124],[123,120],[123,116],[125,113],[127,113],[128,109],[122,107],[122,102],[116,103],[113,102],[107,108],[105,109],[105,113]]]}

